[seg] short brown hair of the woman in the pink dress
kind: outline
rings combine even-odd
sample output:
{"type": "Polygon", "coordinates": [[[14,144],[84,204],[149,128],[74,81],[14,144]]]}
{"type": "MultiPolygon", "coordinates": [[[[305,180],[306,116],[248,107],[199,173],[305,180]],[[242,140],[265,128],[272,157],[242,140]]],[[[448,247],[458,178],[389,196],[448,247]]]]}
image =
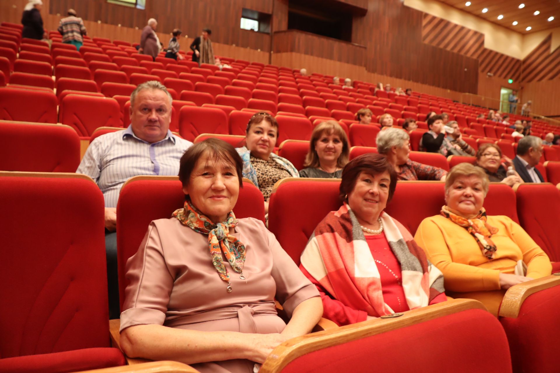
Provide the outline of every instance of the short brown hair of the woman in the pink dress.
{"type": "Polygon", "coordinates": [[[194,167],[197,166],[198,160],[207,153],[211,154],[214,160],[222,160],[234,166],[237,171],[237,178],[239,178],[239,186],[243,186],[243,161],[237,150],[235,150],[233,145],[226,143],[226,141],[209,138],[186,149],[186,152],[181,157],[179,161],[179,180],[183,187],[189,185],[190,174],[193,172],[194,167]]]}

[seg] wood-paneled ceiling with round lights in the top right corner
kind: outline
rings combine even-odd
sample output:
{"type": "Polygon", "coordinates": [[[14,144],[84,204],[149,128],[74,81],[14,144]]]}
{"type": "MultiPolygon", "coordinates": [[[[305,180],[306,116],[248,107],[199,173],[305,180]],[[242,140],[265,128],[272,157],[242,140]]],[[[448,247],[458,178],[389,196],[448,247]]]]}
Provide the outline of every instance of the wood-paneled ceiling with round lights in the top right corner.
{"type": "Polygon", "coordinates": [[[455,8],[482,17],[490,22],[497,23],[508,29],[529,34],[530,32],[553,29],[560,27],[560,0],[440,0],[455,8]],[[466,2],[470,1],[470,6],[466,2]],[[525,7],[519,8],[524,3],[525,7]],[[482,10],[488,8],[488,12],[482,10]],[[534,15],[539,11],[539,15],[534,15]],[[501,20],[498,16],[503,15],[501,20]],[[554,17],[553,21],[548,21],[554,17]],[[512,23],[517,21],[517,25],[512,23]],[[527,31],[526,28],[531,27],[527,31]]]}

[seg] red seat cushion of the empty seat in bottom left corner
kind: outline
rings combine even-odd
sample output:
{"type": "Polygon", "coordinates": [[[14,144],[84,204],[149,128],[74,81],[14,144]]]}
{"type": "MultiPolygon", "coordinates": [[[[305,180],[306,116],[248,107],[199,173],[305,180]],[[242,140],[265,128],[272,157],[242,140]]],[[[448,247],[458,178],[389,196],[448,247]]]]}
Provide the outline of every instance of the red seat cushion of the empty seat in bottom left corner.
{"type": "Polygon", "coordinates": [[[0,359],[0,371],[12,373],[77,372],[124,365],[118,348],[94,347],[0,359]]]}

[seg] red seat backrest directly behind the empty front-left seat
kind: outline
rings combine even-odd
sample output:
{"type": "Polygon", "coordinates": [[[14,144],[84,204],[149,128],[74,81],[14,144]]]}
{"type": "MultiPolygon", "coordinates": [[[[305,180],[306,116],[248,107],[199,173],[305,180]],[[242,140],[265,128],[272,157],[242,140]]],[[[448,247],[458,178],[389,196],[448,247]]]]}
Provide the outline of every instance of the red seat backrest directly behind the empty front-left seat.
{"type": "Polygon", "coordinates": [[[76,172],[80,138],[64,125],[0,121],[0,170],[76,172]]]}

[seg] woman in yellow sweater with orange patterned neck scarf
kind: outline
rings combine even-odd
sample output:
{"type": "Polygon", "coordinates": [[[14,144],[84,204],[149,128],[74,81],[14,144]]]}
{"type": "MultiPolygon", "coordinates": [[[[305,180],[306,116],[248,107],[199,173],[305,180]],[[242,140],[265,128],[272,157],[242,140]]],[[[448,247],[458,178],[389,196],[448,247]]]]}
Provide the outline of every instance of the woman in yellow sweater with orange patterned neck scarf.
{"type": "Polygon", "coordinates": [[[444,273],[447,295],[479,300],[497,315],[507,289],[550,275],[552,266],[521,226],[507,216],[486,215],[488,184],[479,167],[453,167],[441,215],[424,219],[414,239],[444,273]]]}

